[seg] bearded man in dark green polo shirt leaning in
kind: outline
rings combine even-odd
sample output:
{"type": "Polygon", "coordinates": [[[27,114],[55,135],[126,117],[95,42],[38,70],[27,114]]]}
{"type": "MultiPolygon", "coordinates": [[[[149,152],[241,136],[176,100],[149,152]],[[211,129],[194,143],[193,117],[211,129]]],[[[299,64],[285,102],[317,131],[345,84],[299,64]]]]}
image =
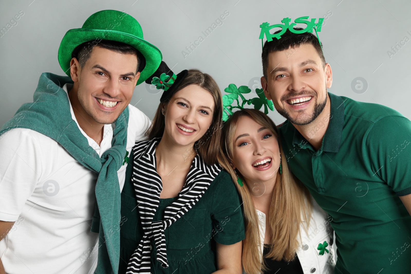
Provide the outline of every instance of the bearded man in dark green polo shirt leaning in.
{"type": "Polygon", "coordinates": [[[283,159],[332,220],[334,273],[410,273],[410,120],[327,92],[331,66],[312,33],[266,41],[262,62],[264,93],[287,119],[283,159]]]}

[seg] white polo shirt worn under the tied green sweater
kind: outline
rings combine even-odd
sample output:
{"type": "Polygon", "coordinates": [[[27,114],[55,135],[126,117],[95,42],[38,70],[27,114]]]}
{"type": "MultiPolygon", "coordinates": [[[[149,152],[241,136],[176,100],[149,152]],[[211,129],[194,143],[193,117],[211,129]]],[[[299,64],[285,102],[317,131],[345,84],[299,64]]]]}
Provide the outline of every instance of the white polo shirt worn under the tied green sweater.
{"type": "MultiPolygon", "coordinates": [[[[67,88],[72,84],[62,87],[66,94],[67,88]]],[[[151,122],[139,109],[128,108],[130,154],[135,141],[145,139],[151,122]]],[[[77,123],[71,104],[70,112],[77,123]]],[[[100,145],[79,129],[101,157],[111,147],[113,126],[104,125],[100,145]]],[[[98,174],[55,140],[31,129],[11,129],[0,136],[0,159],[0,220],[15,221],[0,241],[6,273],[93,273],[99,235],[90,232],[90,226],[98,174]]],[[[126,167],[118,170],[120,190],[126,167]]]]}

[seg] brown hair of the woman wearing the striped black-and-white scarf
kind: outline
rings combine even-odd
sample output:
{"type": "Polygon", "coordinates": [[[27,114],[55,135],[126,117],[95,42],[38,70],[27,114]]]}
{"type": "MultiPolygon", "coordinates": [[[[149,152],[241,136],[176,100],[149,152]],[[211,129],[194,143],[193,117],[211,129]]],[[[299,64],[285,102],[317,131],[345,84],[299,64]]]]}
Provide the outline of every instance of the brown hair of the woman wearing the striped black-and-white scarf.
{"type": "MultiPolygon", "coordinates": [[[[212,116],[212,123],[208,131],[194,143],[194,149],[200,154],[205,163],[212,165],[219,157],[220,152],[220,139],[221,139],[221,128],[222,128],[222,113],[223,113],[223,103],[221,99],[220,89],[215,82],[215,80],[206,73],[199,71],[198,69],[189,69],[187,77],[178,86],[179,90],[187,87],[188,85],[198,85],[203,89],[210,92],[214,98],[214,113],[212,116]]],[[[152,124],[148,129],[147,136],[149,139],[162,137],[164,134],[165,122],[164,115],[161,113],[163,105],[169,104],[170,100],[160,103],[157,111],[155,113],[152,124]]]]}

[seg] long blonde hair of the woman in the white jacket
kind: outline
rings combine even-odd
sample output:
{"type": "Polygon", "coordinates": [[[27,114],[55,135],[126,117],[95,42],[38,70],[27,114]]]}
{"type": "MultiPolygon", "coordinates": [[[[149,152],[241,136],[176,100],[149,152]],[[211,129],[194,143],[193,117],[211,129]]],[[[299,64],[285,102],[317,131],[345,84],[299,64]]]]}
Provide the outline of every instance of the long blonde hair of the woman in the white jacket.
{"type": "MultiPolygon", "coordinates": [[[[219,162],[231,174],[243,201],[245,239],[242,245],[242,265],[247,274],[259,274],[266,269],[266,266],[261,261],[257,213],[247,184],[241,187],[237,183],[237,176],[231,167],[234,135],[240,118],[245,115],[272,132],[278,140],[280,155],[282,155],[282,174],[279,173],[278,169],[267,221],[272,231],[271,249],[267,258],[292,260],[295,257],[299,246],[300,223],[304,220],[308,225],[312,206],[308,190],[288,168],[278,129],[274,122],[270,117],[255,109],[245,108],[236,111],[223,125],[221,147],[225,157],[219,159],[219,162]]],[[[238,171],[237,174],[242,177],[238,171]]],[[[244,180],[243,177],[242,179],[244,180]]]]}

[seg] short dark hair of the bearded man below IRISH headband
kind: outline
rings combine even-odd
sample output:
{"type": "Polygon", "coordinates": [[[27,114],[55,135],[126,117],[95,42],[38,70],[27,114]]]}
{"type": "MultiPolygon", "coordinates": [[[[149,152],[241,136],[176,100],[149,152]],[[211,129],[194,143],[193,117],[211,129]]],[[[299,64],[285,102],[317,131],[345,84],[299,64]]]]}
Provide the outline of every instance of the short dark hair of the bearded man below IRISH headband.
{"type": "MultiPolygon", "coordinates": [[[[294,30],[302,30],[302,28],[294,28],[294,30]]],[[[280,32],[276,31],[274,33],[280,32]]],[[[320,45],[318,38],[313,32],[304,33],[292,33],[289,29],[281,35],[280,39],[273,38],[272,41],[266,41],[263,46],[263,52],[261,53],[261,60],[263,61],[263,75],[267,79],[267,68],[268,68],[268,55],[275,51],[284,51],[290,48],[298,48],[302,44],[312,44],[317,51],[323,68],[326,67],[326,59],[324,58],[323,51],[321,49],[322,43],[320,45]]]]}

